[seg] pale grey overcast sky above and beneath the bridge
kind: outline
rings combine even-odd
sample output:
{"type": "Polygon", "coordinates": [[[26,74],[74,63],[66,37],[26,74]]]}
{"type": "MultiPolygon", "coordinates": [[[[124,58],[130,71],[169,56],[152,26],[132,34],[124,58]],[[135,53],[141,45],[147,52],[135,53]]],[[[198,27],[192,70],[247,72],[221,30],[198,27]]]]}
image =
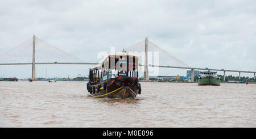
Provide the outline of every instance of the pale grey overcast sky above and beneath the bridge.
{"type": "MultiPolygon", "coordinates": [[[[97,62],[101,50],[121,50],[148,36],[191,67],[256,71],[255,7],[254,0],[2,1],[0,54],[35,34],[82,60],[97,62]]],[[[37,66],[36,76],[76,77],[87,75],[89,67],[37,66]]],[[[185,75],[185,70],[167,72],[185,75]]],[[[3,76],[30,78],[31,66],[0,66],[3,76]]]]}

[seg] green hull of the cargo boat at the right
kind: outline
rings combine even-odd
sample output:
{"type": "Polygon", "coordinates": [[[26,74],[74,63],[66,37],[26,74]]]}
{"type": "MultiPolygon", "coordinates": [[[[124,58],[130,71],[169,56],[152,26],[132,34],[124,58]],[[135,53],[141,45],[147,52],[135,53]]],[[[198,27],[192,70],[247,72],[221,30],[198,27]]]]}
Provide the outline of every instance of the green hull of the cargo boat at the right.
{"type": "Polygon", "coordinates": [[[206,86],[206,85],[220,86],[220,78],[216,78],[216,77],[200,77],[198,79],[198,85],[199,86],[206,86]]]}

